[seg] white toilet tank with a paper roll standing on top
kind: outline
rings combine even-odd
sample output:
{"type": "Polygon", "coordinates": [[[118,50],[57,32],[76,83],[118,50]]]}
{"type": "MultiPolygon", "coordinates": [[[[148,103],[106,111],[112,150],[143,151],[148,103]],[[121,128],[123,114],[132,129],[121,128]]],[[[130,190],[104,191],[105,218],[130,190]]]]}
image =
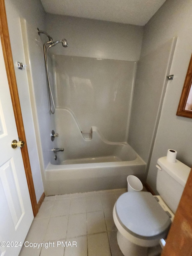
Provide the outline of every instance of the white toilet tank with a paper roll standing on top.
{"type": "Polygon", "coordinates": [[[175,213],[190,173],[190,167],[179,160],[170,163],[167,161],[167,156],[159,158],[157,163],[161,167],[158,167],[157,191],[175,213]]]}

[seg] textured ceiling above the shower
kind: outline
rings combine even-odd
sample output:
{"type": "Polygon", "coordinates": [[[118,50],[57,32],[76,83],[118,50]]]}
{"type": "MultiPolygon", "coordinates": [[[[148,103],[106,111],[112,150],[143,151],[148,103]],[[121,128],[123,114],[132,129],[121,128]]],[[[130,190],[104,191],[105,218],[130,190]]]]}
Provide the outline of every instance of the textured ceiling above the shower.
{"type": "Polygon", "coordinates": [[[144,26],[165,0],[41,0],[47,13],[144,26]]]}

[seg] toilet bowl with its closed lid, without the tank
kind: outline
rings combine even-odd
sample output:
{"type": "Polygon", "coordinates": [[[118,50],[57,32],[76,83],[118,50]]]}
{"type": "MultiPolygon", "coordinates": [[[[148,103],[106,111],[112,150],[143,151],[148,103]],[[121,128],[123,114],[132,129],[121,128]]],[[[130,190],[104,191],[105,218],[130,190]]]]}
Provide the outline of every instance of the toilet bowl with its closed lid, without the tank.
{"type": "Polygon", "coordinates": [[[113,208],[117,241],[125,256],[145,256],[167,236],[170,217],[149,192],[126,192],[113,208]]]}

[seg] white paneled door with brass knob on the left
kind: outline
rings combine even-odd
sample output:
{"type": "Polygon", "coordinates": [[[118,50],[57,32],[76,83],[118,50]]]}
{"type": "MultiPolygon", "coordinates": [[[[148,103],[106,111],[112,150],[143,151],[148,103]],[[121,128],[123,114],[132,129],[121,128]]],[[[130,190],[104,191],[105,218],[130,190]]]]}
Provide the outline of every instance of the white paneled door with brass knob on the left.
{"type": "Polygon", "coordinates": [[[0,41],[0,256],[19,254],[34,218],[21,149],[12,140],[18,134],[0,41]]]}

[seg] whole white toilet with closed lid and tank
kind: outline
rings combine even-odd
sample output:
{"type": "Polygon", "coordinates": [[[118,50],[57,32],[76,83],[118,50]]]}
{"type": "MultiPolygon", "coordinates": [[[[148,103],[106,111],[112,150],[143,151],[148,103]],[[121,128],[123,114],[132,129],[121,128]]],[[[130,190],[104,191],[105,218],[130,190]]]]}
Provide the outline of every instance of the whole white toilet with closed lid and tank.
{"type": "Polygon", "coordinates": [[[190,167],[167,157],[158,159],[157,191],[126,192],[113,208],[113,219],[118,229],[117,242],[124,256],[147,256],[155,254],[159,240],[165,239],[174,218],[190,167]],[[150,253],[153,251],[153,253],[150,253]]]}

